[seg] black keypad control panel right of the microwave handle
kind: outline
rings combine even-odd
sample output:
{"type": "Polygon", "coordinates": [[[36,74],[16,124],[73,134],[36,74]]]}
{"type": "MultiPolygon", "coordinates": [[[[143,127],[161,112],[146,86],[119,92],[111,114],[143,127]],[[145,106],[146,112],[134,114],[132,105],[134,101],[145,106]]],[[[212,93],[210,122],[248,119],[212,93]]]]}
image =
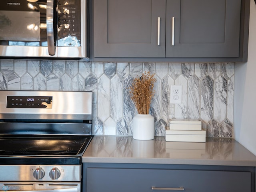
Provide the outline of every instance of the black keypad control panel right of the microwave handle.
{"type": "Polygon", "coordinates": [[[81,2],[80,0],[58,0],[57,45],[81,46],[81,2]]]}

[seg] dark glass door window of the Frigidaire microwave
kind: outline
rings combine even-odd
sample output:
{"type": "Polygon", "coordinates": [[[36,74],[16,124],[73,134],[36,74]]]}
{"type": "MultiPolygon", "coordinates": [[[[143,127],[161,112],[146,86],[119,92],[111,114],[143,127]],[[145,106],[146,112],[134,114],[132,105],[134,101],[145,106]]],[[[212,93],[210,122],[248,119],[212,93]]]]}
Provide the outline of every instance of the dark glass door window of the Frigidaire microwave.
{"type": "Polygon", "coordinates": [[[0,45],[47,46],[46,0],[1,0],[0,45]]]}

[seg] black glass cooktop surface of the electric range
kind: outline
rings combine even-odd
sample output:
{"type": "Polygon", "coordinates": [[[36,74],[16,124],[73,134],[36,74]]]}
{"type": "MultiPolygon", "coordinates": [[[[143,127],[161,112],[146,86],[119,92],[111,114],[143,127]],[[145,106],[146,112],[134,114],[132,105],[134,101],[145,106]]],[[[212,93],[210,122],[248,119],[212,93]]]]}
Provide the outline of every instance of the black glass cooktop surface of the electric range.
{"type": "Polygon", "coordinates": [[[90,138],[0,138],[0,156],[77,156],[90,138]]]}

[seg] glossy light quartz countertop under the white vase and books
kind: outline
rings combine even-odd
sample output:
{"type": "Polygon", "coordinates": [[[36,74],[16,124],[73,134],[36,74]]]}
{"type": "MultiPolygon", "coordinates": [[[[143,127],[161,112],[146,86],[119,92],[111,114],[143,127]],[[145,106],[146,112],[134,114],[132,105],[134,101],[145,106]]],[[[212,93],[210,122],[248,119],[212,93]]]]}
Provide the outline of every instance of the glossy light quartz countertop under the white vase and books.
{"type": "Polygon", "coordinates": [[[164,137],[134,140],[132,136],[94,136],[82,162],[256,166],[256,156],[229,138],[192,143],[166,142],[164,137]]]}

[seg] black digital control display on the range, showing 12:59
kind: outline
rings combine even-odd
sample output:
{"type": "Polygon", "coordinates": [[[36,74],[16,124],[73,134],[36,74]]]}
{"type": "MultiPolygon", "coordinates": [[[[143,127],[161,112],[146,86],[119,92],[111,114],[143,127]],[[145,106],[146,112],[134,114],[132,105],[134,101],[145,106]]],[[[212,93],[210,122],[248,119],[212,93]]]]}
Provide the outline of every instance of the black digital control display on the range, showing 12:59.
{"type": "Polygon", "coordinates": [[[52,108],[52,96],[7,96],[6,108],[52,108]]]}

